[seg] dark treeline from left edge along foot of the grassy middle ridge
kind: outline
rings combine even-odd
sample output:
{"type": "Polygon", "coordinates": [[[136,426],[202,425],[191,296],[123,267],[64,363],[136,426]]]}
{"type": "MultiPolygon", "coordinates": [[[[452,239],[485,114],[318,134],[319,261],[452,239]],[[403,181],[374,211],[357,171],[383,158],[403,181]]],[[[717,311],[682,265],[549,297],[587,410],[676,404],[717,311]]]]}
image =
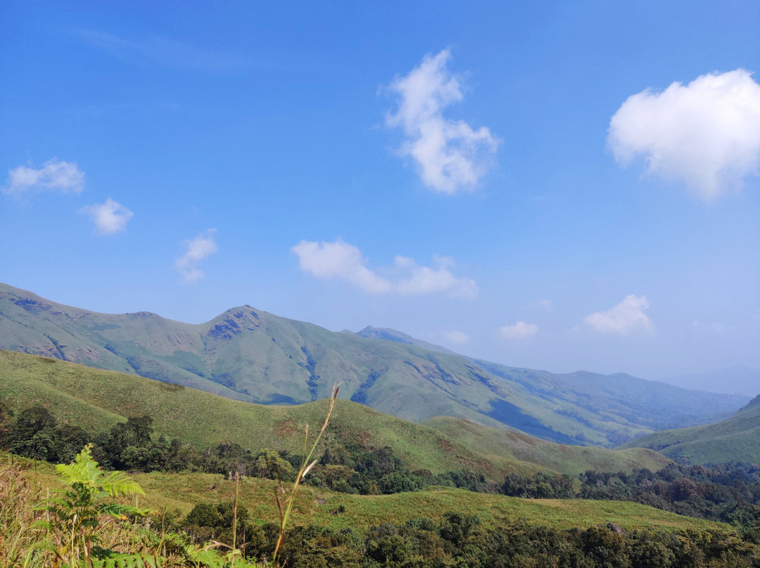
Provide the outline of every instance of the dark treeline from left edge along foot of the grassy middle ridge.
{"type": "MultiPolygon", "coordinates": [[[[153,418],[133,416],[109,431],[90,434],[78,426],[59,425],[43,406],[33,405],[14,418],[0,402],[0,447],[19,456],[68,463],[93,444],[93,457],[104,469],[125,472],[204,472],[232,477],[293,481],[303,456],[287,451],[245,449],[238,443],[219,443],[204,450],[179,439],[154,437],[153,418]]],[[[334,444],[325,450],[307,483],[350,494],[391,494],[420,491],[430,485],[498,493],[496,484],[467,470],[433,474],[410,471],[390,447],[360,443],[334,444]]]]}

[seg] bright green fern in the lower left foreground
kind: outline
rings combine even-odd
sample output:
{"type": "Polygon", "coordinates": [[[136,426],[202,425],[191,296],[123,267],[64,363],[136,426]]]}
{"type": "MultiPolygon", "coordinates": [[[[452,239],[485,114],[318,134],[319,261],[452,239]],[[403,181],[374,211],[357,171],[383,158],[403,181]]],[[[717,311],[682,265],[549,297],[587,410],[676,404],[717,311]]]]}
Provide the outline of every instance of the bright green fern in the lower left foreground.
{"type": "Polygon", "coordinates": [[[70,487],[55,491],[55,496],[37,507],[46,513],[46,519],[38,524],[52,537],[53,566],[76,566],[81,560],[85,566],[91,566],[93,544],[97,543],[99,529],[102,529],[102,516],[126,519],[127,515],[144,516],[149,512],[114,503],[108,497],[144,495],[144,491],[122,472],[103,472],[93,459],[91,444],[84,447],[74,462],[56,465],[55,469],[70,487]]]}

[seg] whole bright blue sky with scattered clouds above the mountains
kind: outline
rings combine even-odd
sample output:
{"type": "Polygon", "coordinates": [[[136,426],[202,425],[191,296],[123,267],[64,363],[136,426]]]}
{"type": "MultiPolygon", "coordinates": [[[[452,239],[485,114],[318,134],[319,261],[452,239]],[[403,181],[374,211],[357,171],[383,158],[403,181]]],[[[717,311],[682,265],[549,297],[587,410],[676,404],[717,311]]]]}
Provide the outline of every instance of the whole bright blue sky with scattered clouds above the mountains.
{"type": "Polygon", "coordinates": [[[758,2],[5,2],[0,281],[760,368],[758,2]]]}

